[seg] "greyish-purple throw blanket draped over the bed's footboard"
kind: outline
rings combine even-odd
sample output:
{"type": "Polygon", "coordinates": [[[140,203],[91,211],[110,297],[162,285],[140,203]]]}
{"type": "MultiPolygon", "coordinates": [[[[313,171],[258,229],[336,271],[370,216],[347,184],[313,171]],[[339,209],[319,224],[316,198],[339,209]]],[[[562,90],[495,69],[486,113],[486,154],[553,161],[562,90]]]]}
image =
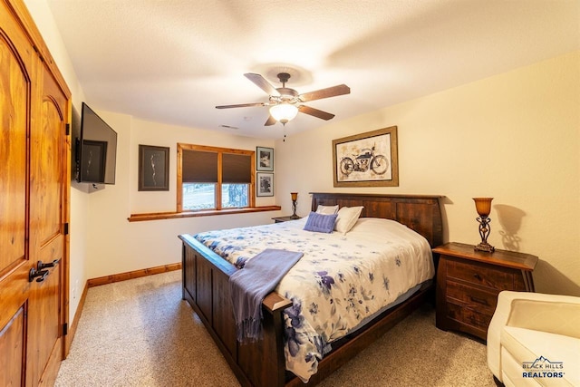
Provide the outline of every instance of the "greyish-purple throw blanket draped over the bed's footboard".
{"type": "Polygon", "coordinates": [[[262,301],[302,256],[295,251],[266,248],[229,277],[238,342],[262,337],[262,301]]]}

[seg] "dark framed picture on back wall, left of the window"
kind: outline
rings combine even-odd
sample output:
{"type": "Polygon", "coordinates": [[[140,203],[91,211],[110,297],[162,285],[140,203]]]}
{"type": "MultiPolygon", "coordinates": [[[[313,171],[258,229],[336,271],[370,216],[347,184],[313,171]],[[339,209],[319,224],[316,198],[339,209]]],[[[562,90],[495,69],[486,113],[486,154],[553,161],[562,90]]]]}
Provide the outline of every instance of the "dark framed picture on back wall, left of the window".
{"type": "Polygon", "coordinates": [[[139,146],[139,190],[169,191],[169,148],[139,146]]]}

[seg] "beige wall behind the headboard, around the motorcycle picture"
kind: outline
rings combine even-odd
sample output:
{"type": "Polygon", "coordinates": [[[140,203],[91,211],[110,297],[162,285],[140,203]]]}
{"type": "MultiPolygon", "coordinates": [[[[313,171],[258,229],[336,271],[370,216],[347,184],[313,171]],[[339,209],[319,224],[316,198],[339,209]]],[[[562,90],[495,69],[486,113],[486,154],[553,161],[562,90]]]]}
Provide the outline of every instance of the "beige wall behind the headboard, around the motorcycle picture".
{"type": "Polygon", "coordinates": [[[444,195],[448,240],[471,244],[471,198],[492,197],[489,243],[538,256],[537,291],[580,295],[579,137],[575,52],[278,140],[276,183],[283,203],[299,192],[302,216],[312,191],[444,195]],[[333,189],[332,140],[391,125],[400,186],[333,189]]]}

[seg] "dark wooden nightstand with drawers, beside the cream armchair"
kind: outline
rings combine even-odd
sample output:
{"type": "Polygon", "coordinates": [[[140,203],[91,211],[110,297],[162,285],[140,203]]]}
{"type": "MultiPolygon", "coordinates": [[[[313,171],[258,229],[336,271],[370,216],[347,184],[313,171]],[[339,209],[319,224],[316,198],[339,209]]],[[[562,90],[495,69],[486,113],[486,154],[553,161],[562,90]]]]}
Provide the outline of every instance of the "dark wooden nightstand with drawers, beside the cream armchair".
{"type": "Polygon", "coordinates": [[[440,254],[436,325],[444,331],[473,334],[485,341],[499,292],[534,291],[537,256],[506,250],[486,253],[462,243],[435,247],[433,253],[440,254]]]}

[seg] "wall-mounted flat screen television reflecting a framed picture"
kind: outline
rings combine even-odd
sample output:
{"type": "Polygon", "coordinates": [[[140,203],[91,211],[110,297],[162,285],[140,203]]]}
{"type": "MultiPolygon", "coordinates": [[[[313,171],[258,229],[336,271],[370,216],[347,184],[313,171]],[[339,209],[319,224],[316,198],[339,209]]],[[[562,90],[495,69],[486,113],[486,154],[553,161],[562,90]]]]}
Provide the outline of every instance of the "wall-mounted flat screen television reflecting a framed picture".
{"type": "Polygon", "coordinates": [[[117,132],[82,102],[81,131],[76,139],[76,179],[80,183],[115,184],[117,132]]]}

